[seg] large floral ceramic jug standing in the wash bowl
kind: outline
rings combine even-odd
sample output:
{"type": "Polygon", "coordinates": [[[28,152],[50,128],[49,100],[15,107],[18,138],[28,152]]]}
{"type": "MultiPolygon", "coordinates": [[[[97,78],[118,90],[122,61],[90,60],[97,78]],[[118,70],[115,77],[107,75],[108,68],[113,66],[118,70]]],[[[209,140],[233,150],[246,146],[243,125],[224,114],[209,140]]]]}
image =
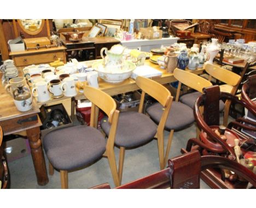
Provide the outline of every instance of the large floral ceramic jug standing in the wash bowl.
{"type": "Polygon", "coordinates": [[[108,48],[101,48],[101,57],[103,58],[102,65],[106,69],[116,69],[121,70],[124,67],[123,53],[125,48],[120,44],[114,45],[108,51],[108,48]],[[103,56],[105,51],[106,57],[103,56]]]}

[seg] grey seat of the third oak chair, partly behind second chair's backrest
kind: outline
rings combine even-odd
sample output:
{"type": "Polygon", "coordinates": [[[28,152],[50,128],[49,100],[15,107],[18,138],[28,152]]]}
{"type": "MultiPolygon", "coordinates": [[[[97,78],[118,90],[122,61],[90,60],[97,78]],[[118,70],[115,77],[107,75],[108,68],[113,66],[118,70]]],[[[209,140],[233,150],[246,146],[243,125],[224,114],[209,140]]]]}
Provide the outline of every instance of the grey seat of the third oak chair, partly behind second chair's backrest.
{"type": "MultiPolygon", "coordinates": [[[[147,108],[149,116],[159,124],[164,107],[160,103],[155,103],[147,108]]],[[[172,102],[170,113],[168,114],[165,130],[178,131],[193,124],[195,121],[193,109],[181,102],[172,102]]]]}

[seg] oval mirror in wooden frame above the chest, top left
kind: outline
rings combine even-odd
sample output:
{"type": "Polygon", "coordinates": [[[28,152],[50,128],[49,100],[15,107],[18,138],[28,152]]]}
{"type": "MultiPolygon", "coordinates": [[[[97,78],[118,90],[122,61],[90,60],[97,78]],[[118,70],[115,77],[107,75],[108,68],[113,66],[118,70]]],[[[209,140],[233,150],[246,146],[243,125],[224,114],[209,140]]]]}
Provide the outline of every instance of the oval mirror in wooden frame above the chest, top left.
{"type": "Polygon", "coordinates": [[[21,19],[17,21],[21,29],[30,35],[37,35],[44,27],[44,20],[42,19],[21,19]]]}

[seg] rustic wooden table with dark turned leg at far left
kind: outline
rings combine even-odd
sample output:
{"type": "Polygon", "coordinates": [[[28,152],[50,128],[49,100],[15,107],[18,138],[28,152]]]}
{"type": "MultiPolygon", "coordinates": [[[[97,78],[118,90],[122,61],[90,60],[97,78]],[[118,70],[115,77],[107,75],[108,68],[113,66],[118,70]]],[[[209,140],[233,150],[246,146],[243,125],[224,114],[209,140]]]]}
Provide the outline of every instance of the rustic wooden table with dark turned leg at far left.
{"type": "MultiPolygon", "coordinates": [[[[0,77],[2,77],[2,74],[0,77]]],[[[38,117],[40,111],[37,104],[33,102],[33,107],[30,111],[18,111],[14,105],[13,98],[4,90],[2,83],[0,84],[0,100],[0,126],[3,129],[4,136],[26,131],[30,142],[37,182],[39,185],[46,185],[49,180],[46,172],[42,142],[40,140],[39,126],[42,123],[38,117]]]]}

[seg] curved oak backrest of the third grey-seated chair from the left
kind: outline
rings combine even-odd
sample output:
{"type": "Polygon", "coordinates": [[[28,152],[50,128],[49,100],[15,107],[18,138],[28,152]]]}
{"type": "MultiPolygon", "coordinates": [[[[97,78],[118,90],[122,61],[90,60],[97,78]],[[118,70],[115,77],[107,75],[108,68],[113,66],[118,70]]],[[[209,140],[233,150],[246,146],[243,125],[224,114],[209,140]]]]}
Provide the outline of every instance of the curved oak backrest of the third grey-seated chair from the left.
{"type": "Polygon", "coordinates": [[[200,93],[202,93],[203,88],[212,86],[212,83],[207,79],[178,68],[174,69],[173,76],[182,84],[200,91],[200,93]]]}

